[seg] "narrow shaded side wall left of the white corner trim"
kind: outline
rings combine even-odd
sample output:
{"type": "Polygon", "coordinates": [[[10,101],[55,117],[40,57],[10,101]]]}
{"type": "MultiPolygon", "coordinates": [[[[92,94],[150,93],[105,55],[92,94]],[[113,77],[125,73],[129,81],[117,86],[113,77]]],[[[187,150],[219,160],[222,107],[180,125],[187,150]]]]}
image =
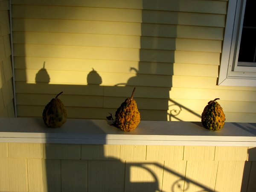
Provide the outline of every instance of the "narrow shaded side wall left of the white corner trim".
{"type": "Polygon", "coordinates": [[[0,116],[14,117],[9,1],[0,1],[0,116]]]}

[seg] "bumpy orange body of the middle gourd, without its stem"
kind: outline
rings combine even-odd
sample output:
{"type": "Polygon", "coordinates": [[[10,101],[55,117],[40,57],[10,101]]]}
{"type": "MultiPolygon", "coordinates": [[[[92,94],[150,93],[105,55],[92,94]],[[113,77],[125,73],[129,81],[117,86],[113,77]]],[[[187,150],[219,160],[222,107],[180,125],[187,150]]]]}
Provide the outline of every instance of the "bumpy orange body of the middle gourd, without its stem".
{"type": "Polygon", "coordinates": [[[140,123],[140,112],[135,100],[128,98],[116,110],[116,127],[123,131],[132,131],[140,123]]]}

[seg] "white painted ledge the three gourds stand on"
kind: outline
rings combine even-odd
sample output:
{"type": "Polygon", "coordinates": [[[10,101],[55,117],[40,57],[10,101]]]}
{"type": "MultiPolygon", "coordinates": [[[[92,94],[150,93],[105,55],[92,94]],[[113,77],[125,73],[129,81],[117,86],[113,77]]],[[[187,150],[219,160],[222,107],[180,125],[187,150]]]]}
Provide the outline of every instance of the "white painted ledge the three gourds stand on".
{"type": "Polygon", "coordinates": [[[0,118],[0,142],[256,146],[256,123],[226,122],[220,131],[209,131],[201,122],[141,121],[124,132],[107,120],[67,119],[61,128],[47,128],[41,118],[0,118]]]}

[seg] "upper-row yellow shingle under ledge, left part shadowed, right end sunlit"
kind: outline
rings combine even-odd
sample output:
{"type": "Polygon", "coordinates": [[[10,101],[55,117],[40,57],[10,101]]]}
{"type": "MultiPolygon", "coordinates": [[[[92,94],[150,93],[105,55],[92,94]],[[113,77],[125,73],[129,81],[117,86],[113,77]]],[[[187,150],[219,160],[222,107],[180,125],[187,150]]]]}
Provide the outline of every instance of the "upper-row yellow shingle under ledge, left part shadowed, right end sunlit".
{"type": "Polygon", "coordinates": [[[119,160],[120,145],[82,145],[81,159],[119,160]]]}

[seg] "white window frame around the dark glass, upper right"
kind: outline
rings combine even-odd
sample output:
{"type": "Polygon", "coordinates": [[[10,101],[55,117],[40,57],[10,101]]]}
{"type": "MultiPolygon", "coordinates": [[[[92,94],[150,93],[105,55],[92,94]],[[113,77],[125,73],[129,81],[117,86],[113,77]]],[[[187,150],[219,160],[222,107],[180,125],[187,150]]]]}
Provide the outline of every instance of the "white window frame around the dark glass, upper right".
{"type": "Polygon", "coordinates": [[[256,67],[237,66],[245,2],[229,0],[218,85],[256,87],[256,67]]]}

